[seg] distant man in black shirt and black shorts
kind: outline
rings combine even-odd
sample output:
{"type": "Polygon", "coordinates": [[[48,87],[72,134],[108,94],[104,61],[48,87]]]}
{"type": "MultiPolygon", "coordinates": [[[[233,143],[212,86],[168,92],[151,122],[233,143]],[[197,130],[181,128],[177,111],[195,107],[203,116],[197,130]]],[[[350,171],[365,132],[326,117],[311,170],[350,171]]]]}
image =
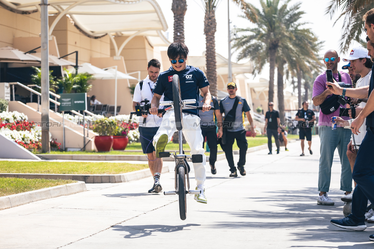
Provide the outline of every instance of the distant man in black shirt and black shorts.
{"type": "Polygon", "coordinates": [[[298,110],[296,114],[296,120],[299,122],[299,138],[301,140],[301,155],[300,156],[305,156],[304,155],[304,141],[306,137],[306,141],[308,141],[309,145],[309,153],[312,155],[312,126],[314,121],[316,120],[316,116],[312,110],[308,109],[309,103],[308,101],[303,102],[303,108],[298,110]]]}

